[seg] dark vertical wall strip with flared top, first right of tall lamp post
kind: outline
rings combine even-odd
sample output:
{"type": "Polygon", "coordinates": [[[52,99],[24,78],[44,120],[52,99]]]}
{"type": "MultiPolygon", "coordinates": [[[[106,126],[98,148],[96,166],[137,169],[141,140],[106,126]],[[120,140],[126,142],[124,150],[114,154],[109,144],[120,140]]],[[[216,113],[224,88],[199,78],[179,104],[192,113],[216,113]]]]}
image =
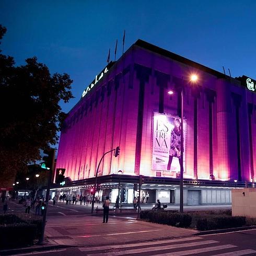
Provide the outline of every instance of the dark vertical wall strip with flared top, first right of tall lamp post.
{"type": "Polygon", "coordinates": [[[194,97],[194,178],[197,179],[197,153],[198,153],[198,99],[200,98],[200,87],[192,87],[194,97]]]}

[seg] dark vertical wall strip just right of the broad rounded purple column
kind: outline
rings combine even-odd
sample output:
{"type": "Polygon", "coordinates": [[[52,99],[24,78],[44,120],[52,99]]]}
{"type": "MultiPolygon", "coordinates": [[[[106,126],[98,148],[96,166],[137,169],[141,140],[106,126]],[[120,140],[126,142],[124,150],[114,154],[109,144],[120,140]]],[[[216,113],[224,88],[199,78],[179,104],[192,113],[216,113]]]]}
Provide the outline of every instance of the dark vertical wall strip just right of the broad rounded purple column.
{"type": "Polygon", "coordinates": [[[237,134],[237,171],[238,181],[242,181],[242,168],[241,168],[241,142],[240,142],[240,116],[239,109],[241,106],[242,97],[241,95],[232,93],[232,99],[236,108],[236,134],[237,134]]]}

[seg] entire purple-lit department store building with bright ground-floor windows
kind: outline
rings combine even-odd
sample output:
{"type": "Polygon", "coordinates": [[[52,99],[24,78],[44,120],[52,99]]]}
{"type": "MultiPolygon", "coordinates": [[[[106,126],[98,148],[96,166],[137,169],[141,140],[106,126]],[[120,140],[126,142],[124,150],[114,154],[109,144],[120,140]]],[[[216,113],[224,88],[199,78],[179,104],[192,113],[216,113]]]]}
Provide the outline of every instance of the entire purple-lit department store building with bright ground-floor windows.
{"type": "Polygon", "coordinates": [[[99,167],[101,200],[110,195],[115,202],[120,181],[122,202],[132,203],[141,174],[142,202],[179,204],[179,158],[170,165],[169,155],[183,103],[184,204],[230,203],[232,188],[254,187],[255,84],[136,41],[68,113],[56,162],[65,184],[52,190],[90,193],[100,158],[120,146],[120,155],[107,154],[99,167]]]}

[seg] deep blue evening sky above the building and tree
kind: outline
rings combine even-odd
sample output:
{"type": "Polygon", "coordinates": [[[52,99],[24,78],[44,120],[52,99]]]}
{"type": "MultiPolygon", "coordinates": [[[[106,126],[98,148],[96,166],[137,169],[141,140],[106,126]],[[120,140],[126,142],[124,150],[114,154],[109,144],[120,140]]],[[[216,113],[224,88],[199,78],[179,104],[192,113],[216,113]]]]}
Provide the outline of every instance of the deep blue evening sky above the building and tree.
{"type": "Polygon", "coordinates": [[[68,73],[75,99],[107,64],[137,39],[233,77],[256,78],[256,1],[11,1],[0,2],[7,28],[3,53],[17,65],[37,56],[51,73],[68,73]]]}

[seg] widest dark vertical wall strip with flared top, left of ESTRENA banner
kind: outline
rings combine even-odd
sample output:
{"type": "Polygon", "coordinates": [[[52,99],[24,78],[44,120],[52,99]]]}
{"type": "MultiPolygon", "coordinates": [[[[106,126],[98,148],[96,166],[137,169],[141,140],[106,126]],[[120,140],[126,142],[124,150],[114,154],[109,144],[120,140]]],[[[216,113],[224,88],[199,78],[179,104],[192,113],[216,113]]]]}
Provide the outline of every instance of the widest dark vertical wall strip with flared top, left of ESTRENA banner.
{"type": "Polygon", "coordinates": [[[134,172],[139,175],[139,167],[141,165],[141,148],[142,148],[142,130],[143,130],[143,114],[144,114],[144,95],[145,84],[148,83],[149,75],[152,69],[139,64],[134,64],[136,78],[139,80],[138,94],[138,114],[137,114],[137,131],[136,131],[136,148],[135,148],[135,166],[134,172]]]}

